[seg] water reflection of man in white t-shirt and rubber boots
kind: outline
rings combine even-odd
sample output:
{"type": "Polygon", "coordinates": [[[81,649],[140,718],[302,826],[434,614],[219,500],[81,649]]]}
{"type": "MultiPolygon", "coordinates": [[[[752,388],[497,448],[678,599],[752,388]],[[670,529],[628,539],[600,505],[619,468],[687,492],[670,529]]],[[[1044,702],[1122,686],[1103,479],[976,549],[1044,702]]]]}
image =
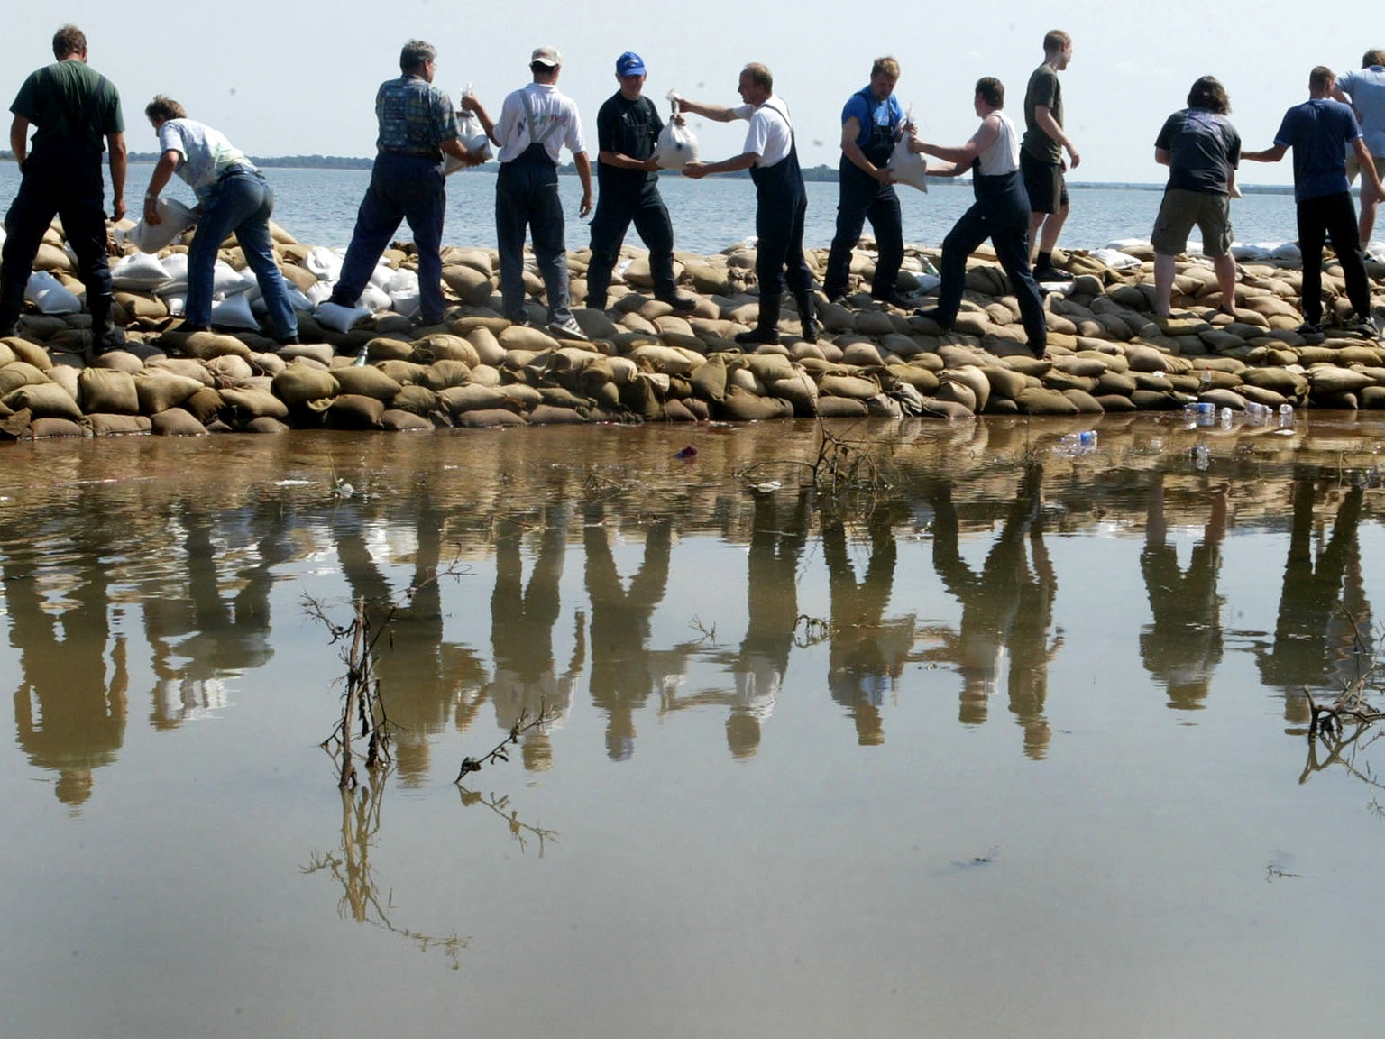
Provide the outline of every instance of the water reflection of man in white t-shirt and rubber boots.
{"type": "Polygon", "coordinates": [[[773,493],[756,493],[747,554],[748,621],[731,664],[735,695],[726,716],[726,744],[737,758],[760,745],[760,726],[774,713],[798,625],[798,564],[807,543],[809,507],[799,493],[780,518],[773,493]]]}

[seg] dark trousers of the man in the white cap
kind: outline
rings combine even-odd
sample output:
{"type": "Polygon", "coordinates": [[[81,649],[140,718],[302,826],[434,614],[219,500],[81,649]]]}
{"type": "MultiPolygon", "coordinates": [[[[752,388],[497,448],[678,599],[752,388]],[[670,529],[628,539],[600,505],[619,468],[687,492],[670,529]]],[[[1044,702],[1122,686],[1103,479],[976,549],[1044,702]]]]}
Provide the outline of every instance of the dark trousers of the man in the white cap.
{"type": "Polygon", "coordinates": [[[558,169],[546,162],[515,159],[501,162],[496,179],[496,244],[500,247],[500,296],[506,317],[524,313],[524,236],[533,234],[533,256],[539,262],[548,296],[548,320],[572,317],[568,305],[568,254],[562,199],[558,198],[558,169]]]}

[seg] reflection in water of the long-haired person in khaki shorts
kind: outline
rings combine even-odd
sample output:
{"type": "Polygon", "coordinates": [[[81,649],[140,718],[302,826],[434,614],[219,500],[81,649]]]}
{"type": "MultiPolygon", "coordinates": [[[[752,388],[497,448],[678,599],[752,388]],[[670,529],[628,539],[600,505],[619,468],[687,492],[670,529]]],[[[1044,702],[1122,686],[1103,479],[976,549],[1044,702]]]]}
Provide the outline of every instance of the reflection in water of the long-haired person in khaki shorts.
{"type": "Polygon", "coordinates": [[[1163,474],[1150,488],[1140,572],[1150,594],[1154,622],[1140,632],[1140,657],[1145,669],[1163,683],[1169,707],[1194,711],[1208,694],[1212,672],[1222,661],[1222,542],[1226,539],[1227,492],[1223,483],[1212,493],[1212,514],[1202,540],[1192,546],[1187,569],[1168,542],[1163,515],[1163,474]]]}

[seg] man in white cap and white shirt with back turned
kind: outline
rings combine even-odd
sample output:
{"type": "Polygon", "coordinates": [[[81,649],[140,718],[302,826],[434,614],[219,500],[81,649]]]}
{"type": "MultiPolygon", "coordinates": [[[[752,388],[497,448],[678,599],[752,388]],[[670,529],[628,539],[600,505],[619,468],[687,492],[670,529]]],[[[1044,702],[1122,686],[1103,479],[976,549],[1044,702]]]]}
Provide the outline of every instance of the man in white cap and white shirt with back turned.
{"type": "Polygon", "coordinates": [[[566,223],[558,197],[558,158],[566,147],[582,180],[578,216],[591,212],[591,159],[582,139],[578,103],[558,90],[562,55],[557,47],[536,47],[529,57],[533,82],[506,96],[500,119],[475,103],[472,111],[500,148],[496,176],[496,245],[500,252],[500,296],[506,317],[528,324],[524,287],[524,238],[533,236],[533,255],[548,302],[548,331],[586,339],[572,316],[568,290],[566,223]]]}

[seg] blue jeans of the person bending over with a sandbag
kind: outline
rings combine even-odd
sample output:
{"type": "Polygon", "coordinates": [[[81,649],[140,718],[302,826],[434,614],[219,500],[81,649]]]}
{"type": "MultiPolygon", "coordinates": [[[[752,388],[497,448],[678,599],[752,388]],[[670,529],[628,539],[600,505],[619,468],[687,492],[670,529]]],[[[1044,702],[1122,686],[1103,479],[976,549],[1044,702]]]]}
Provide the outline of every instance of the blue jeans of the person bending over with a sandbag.
{"type": "Polygon", "coordinates": [[[280,339],[298,335],[298,316],[288,302],[284,276],[270,244],[269,216],[274,212],[274,193],[258,172],[233,168],[202,202],[202,216],[187,249],[188,324],[212,323],[212,281],[216,254],[231,231],[245,254],[245,263],[255,273],[270,321],[280,339]]]}

